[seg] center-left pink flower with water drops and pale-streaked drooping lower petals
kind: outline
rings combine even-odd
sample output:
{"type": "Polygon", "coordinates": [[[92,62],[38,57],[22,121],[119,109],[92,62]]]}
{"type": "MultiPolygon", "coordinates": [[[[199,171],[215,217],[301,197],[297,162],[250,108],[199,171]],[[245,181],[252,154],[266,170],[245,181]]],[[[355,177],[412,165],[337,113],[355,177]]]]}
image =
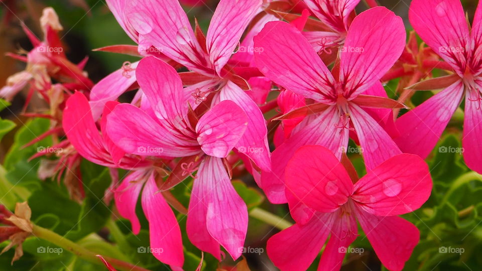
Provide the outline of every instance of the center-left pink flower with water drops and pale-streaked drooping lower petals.
{"type": "Polygon", "coordinates": [[[231,185],[222,159],[246,130],[245,112],[224,100],[211,109],[202,108],[207,112],[197,118],[176,70],[154,57],[139,62],[136,77],[146,97],[142,109],[117,105],[107,117],[108,136],[130,154],[200,157],[199,169],[194,163],[181,164],[188,174],[198,171],[187,215],[189,239],[218,259],[221,244],[236,259],[246,237],[248,210],[231,185]]]}

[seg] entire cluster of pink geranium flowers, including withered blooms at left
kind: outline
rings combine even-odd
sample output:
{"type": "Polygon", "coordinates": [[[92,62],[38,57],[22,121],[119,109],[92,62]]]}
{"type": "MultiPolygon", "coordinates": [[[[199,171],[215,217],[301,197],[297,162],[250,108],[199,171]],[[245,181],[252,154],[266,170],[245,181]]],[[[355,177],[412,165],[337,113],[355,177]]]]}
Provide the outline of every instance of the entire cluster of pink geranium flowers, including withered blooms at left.
{"type": "Polygon", "coordinates": [[[358,223],[383,265],[401,270],[420,234],[398,216],[430,197],[424,159],[463,97],[463,158],[482,173],[482,5],[470,27],[459,0],[413,0],[407,42],[400,17],[385,7],[356,14],[359,0],[221,0],[206,34],[178,0],[106,2],[137,45],[98,50],[138,62],[93,84],[85,61],[66,59],[62,27],[46,9],[44,41],[25,28],[34,49],[12,56],[27,69],[0,95],[11,99],[29,85],[29,97],[50,104],[48,114],[30,116],[51,119],[45,136],[58,141],[35,157],[61,152],[39,174],[63,177],[81,201],[72,177],[81,158],[109,168],[105,199],[138,234],[141,198],[150,251],[174,270],[184,252],[172,208],[187,214],[187,236],[200,250],[218,260],[221,247],[233,259],[246,250],[248,208],[231,183],[234,170],[248,171],[271,203],[289,206],[295,224],[267,242],[281,270],[306,270],[323,247],[318,270],[339,269],[358,223]],[[447,75],[432,78],[434,68],[447,75]],[[397,78],[387,94],[384,83],[397,78]],[[411,101],[416,90],[439,89],[411,101]],[[119,103],[128,91],[132,101],[119,103]],[[359,151],[347,152],[350,140],[359,151]],[[363,157],[365,176],[349,153],[363,157]],[[122,181],[117,169],[129,171],[122,181]],[[170,190],[189,182],[186,208],[170,190]]]}

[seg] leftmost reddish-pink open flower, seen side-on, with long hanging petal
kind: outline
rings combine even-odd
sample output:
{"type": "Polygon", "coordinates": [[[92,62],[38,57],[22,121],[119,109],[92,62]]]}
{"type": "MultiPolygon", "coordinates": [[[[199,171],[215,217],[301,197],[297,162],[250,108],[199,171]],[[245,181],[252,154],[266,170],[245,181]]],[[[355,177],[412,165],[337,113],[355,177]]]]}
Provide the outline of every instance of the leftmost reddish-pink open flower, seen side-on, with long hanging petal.
{"type": "Polygon", "coordinates": [[[104,108],[100,120],[101,135],[95,125],[87,98],[76,92],[67,100],[64,109],[62,124],[67,139],[82,157],[92,163],[114,169],[132,170],[114,191],[119,214],[131,221],[133,233],[138,234],[141,226],[136,215],[136,204],[143,190],[141,202],[149,221],[150,246],[153,248],[154,256],[164,263],[182,266],[184,254],[181,230],[172,209],[162,194],[157,193],[159,189],[154,180],[152,162],[143,161],[130,154],[126,155],[107,136],[106,119],[115,104],[117,103],[109,102],[104,108]]]}

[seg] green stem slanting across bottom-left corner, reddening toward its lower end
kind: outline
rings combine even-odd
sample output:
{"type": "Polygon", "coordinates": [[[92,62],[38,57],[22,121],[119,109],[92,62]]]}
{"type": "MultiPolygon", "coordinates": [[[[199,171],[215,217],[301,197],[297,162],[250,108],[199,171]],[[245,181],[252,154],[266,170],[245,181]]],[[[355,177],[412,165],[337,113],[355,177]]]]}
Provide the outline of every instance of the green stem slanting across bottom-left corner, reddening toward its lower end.
{"type": "MultiPolygon", "coordinates": [[[[73,254],[77,255],[78,257],[87,260],[92,263],[97,263],[103,265],[102,261],[100,258],[96,256],[96,254],[74,242],[72,242],[69,239],[64,238],[63,236],[49,230],[46,228],[42,228],[40,226],[34,225],[32,234],[38,238],[45,239],[55,245],[58,245],[73,254]]],[[[105,257],[104,259],[108,261],[112,266],[119,270],[123,271],[149,271],[148,269],[145,269],[143,267],[134,265],[129,262],[125,262],[122,260],[114,259],[111,257],[105,257]]]]}

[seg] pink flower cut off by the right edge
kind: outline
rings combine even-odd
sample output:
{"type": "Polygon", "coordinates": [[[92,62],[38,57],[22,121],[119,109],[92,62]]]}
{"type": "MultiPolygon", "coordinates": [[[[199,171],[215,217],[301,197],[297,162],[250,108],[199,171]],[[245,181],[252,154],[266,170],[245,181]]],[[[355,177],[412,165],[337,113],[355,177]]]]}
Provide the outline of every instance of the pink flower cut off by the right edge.
{"type": "Polygon", "coordinates": [[[427,157],[465,94],[463,157],[470,169],[482,173],[482,5],[470,32],[458,0],[414,0],[409,15],[422,40],[455,74],[450,86],[398,118],[401,137],[395,140],[404,152],[427,157]]]}

